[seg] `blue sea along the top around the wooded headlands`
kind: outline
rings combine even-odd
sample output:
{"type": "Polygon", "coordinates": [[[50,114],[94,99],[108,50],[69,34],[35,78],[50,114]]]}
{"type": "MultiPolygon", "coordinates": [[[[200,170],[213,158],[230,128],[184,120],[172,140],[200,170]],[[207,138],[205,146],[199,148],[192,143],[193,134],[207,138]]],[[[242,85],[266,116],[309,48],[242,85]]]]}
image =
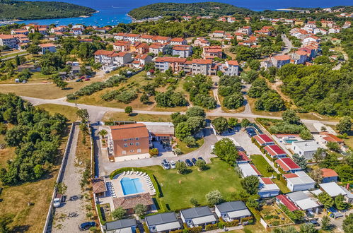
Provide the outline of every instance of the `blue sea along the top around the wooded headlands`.
{"type": "MultiPolygon", "coordinates": [[[[42,1],[42,0],[41,0],[42,1]]],[[[52,0],[46,0],[52,1],[52,0]]],[[[54,18],[54,19],[42,19],[42,20],[23,20],[18,23],[38,23],[40,25],[50,25],[52,23],[57,25],[68,25],[68,24],[83,24],[83,25],[117,25],[118,23],[130,23],[130,18],[127,13],[134,8],[145,6],[148,4],[155,4],[158,2],[178,2],[178,3],[192,3],[202,2],[207,0],[56,0],[64,1],[71,4],[77,4],[81,6],[88,6],[96,11],[90,17],[77,17],[77,18],[54,18]]],[[[350,6],[352,0],[210,0],[218,1],[225,4],[232,4],[234,6],[248,8],[253,11],[265,11],[265,10],[277,10],[280,8],[291,8],[291,7],[331,7],[331,6],[350,6]]],[[[1,18],[1,16],[0,16],[1,18]]]]}

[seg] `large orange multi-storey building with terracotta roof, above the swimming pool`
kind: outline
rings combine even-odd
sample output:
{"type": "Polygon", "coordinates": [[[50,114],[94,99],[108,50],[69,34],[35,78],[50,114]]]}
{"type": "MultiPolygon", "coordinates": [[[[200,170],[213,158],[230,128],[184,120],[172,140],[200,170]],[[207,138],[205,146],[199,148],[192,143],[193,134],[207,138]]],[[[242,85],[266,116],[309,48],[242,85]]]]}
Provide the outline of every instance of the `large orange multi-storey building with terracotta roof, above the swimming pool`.
{"type": "Polygon", "coordinates": [[[151,135],[144,124],[110,126],[114,157],[128,156],[130,159],[149,157],[151,135]]]}

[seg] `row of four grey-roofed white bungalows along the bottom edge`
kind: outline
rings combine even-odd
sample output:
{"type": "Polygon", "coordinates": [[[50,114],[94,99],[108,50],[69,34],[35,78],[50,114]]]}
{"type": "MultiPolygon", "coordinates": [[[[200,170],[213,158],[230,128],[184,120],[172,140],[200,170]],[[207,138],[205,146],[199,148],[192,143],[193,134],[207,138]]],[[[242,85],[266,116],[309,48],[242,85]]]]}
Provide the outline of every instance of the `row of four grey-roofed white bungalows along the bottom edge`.
{"type": "MultiPolygon", "coordinates": [[[[207,206],[180,210],[178,216],[174,212],[159,213],[146,216],[144,221],[149,232],[170,232],[187,227],[205,227],[215,224],[219,218],[226,222],[250,218],[252,215],[242,201],[231,201],[214,206],[214,213],[207,206]]],[[[137,221],[134,218],[106,222],[105,232],[136,232],[137,221]]]]}

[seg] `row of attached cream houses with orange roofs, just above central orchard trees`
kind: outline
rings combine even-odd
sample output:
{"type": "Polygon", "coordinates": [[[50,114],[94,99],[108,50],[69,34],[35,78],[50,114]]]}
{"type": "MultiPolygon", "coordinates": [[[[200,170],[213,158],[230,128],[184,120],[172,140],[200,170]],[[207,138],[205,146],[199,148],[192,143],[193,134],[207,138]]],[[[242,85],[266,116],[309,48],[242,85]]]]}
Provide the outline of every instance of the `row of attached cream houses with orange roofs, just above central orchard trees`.
{"type": "Polygon", "coordinates": [[[224,64],[214,63],[212,59],[192,59],[188,61],[181,57],[156,57],[154,60],[156,68],[165,72],[169,68],[173,73],[185,71],[192,75],[203,74],[205,76],[216,75],[217,71],[221,71],[228,76],[237,76],[239,65],[238,61],[226,61],[224,64]]]}

